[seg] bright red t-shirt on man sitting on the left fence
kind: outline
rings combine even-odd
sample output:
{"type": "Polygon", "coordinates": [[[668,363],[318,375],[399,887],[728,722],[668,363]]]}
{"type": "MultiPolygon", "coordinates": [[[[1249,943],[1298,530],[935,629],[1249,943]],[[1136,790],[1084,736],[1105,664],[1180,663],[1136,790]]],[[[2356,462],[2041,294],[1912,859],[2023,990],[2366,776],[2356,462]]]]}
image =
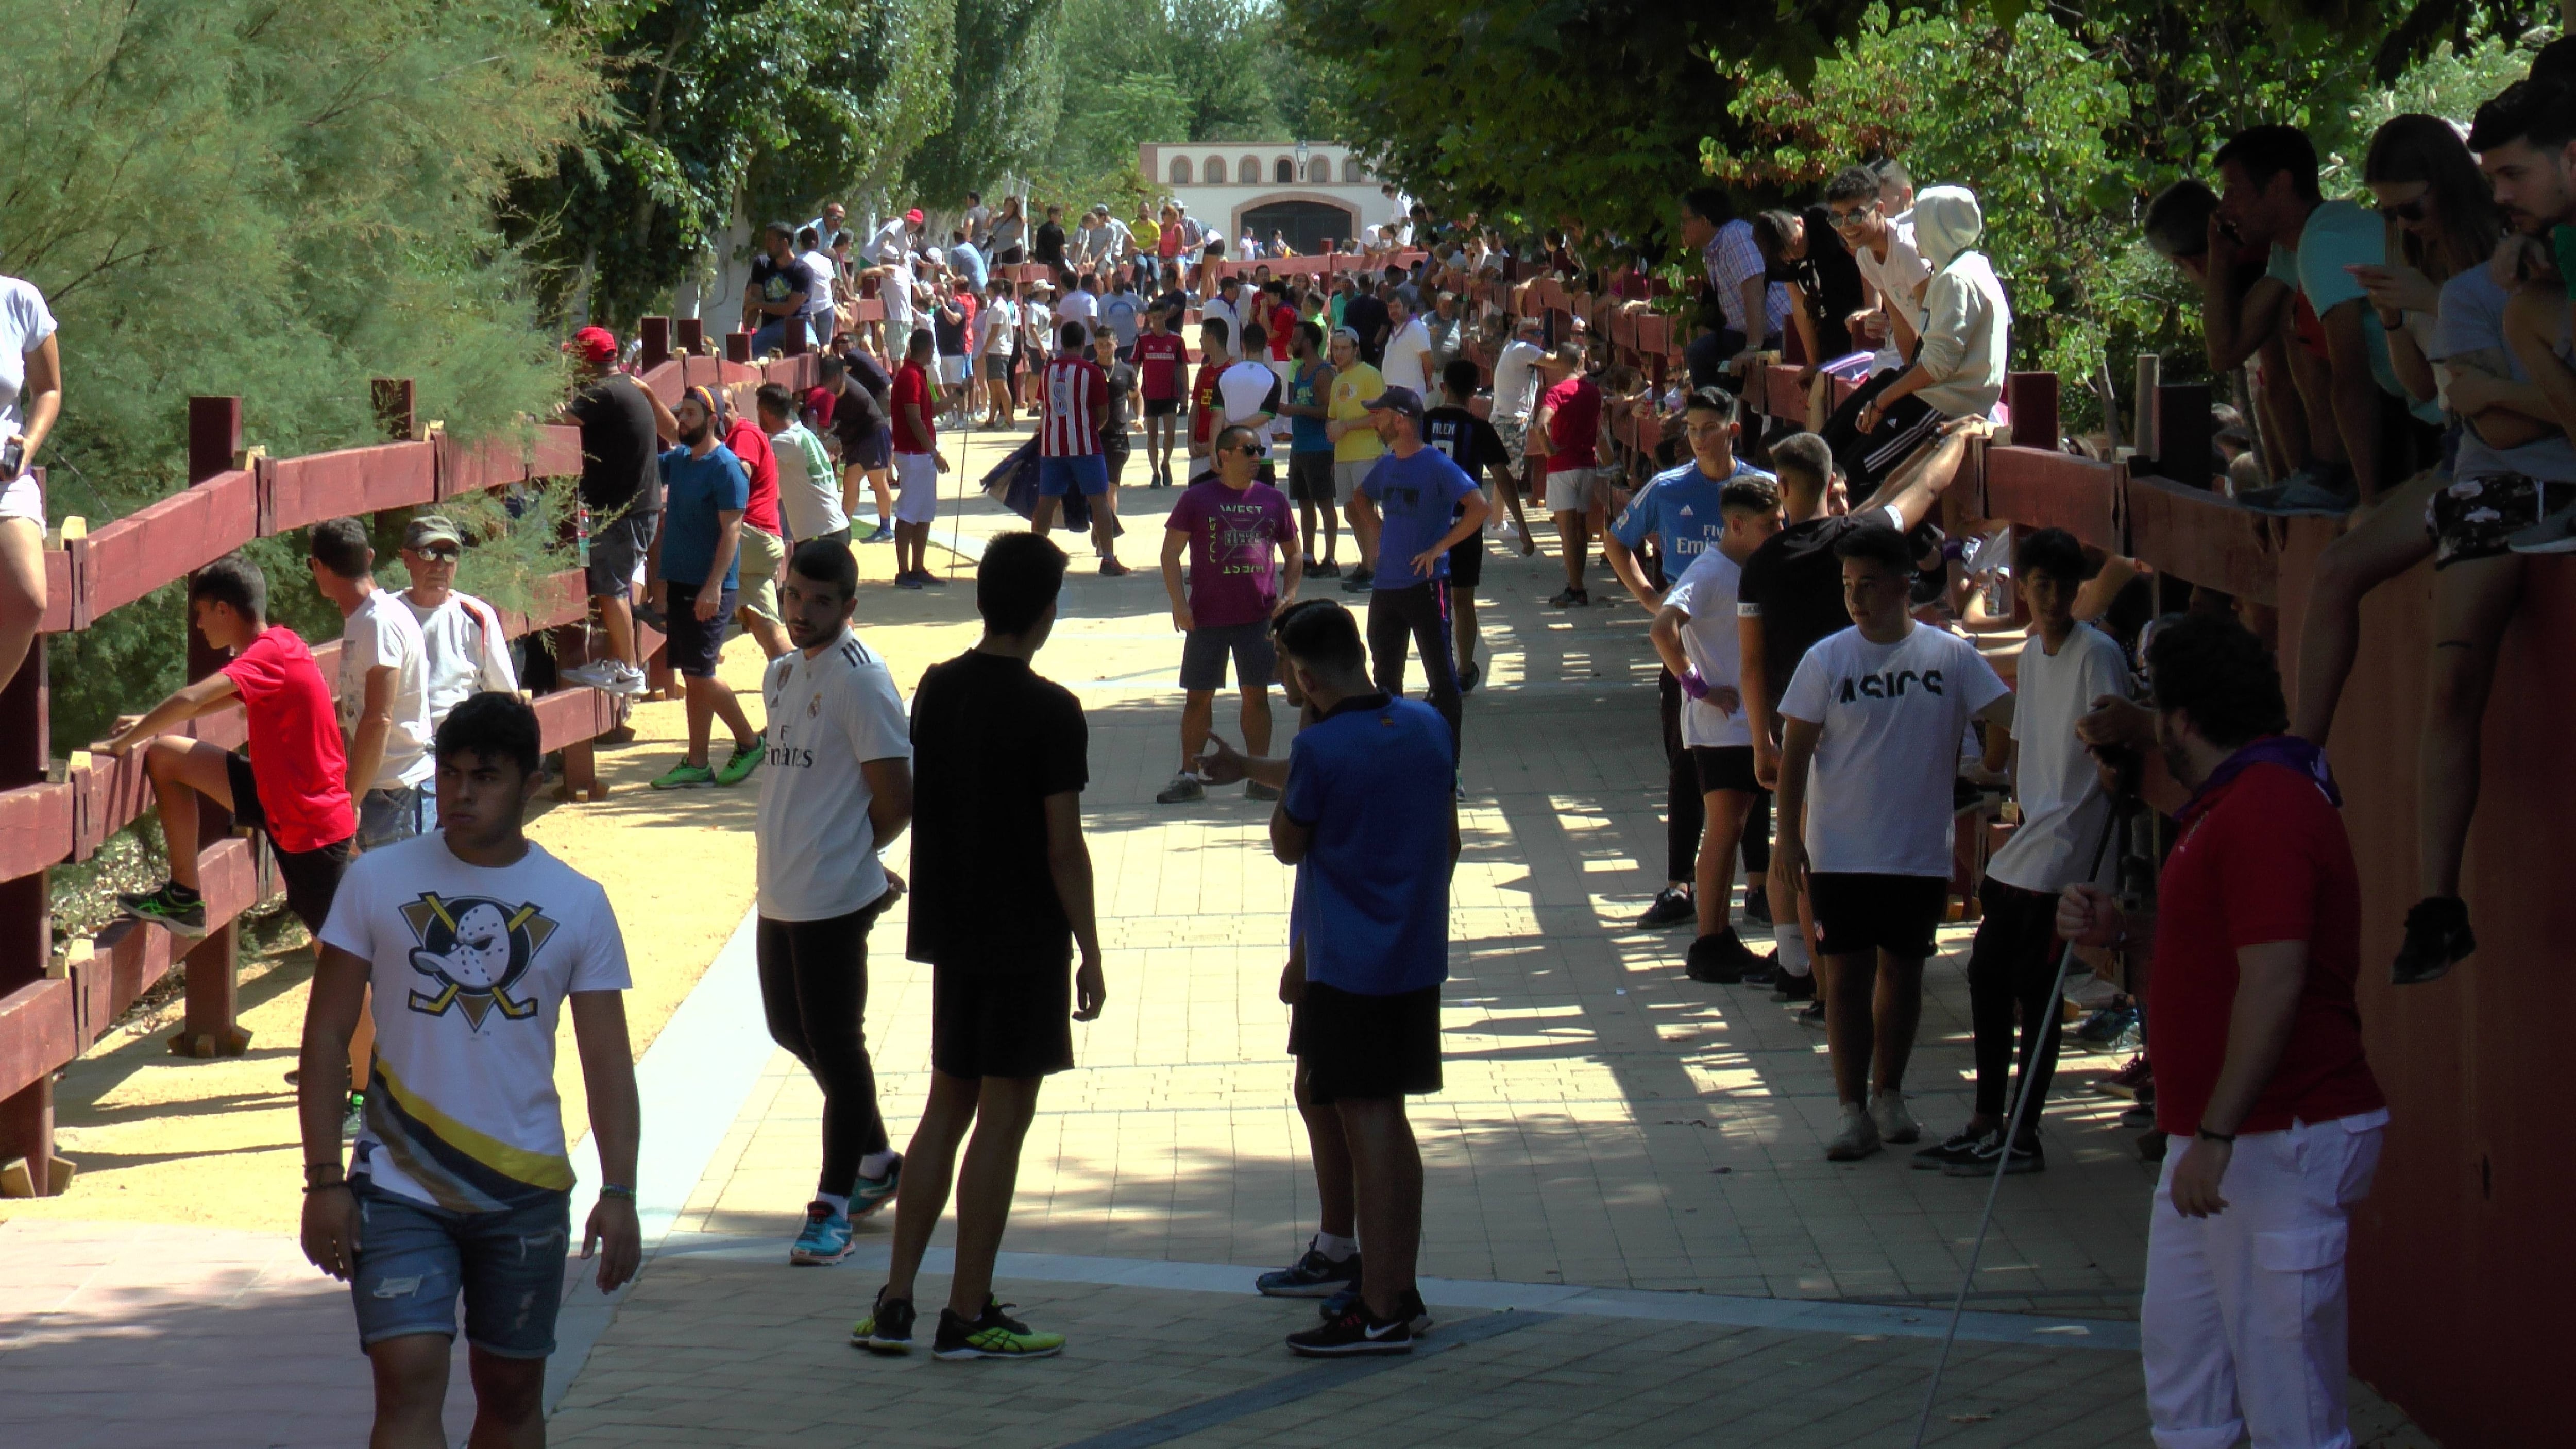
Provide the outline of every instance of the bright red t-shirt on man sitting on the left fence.
{"type": "Polygon", "coordinates": [[[268,839],[304,854],[358,834],[340,715],[304,638],[273,623],[222,674],[250,715],[250,780],[260,790],[268,839]]]}

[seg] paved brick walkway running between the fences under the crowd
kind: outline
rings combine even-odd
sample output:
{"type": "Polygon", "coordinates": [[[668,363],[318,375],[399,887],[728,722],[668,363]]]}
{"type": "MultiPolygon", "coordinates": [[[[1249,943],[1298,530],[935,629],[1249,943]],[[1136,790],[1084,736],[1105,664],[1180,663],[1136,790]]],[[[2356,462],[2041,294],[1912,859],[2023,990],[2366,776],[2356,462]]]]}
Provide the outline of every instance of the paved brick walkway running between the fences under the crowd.
{"type": "MultiPolygon", "coordinates": [[[[951,489],[997,450],[976,438],[951,489]]],[[[1437,1354],[1314,1367],[1280,1349],[1311,1305],[1260,1300],[1249,1282],[1314,1230],[1275,1001],[1288,872],[1265,849],[1265,808],[1239,790],[1151,800],[1177,752],[1177,638],[1146,569],[1170,497],[1126,494],[1139,577],[1097,579],[1077,561],[1038,659],[1090,710],[1084,818],[1110,1004],[1077,1027],[1082,1066],[1041,1099],[999,1292],[1069,1333],[1064,1359],[958,1367],[845,1346],[891,1223],[868,1225],[837,1271],[786,1266],[819,1096],[760,1037],[737,932],[644,1055],[659,1246],[618,1302],[567,1287],[556,1439],[1906,1444],[1984,1186],[1909,1171],[1904,1153],[1826,1163],[1821,1035],[1767,993],[1682,978],[1687,932],[1628,927],[1662,885],[1643,615],[1540,607],[1556,564],[1510,556],[1499,538],[1481,589],[1486,687],[1466,708],[1448,1089],[1414,1107],[1437,1354]]],[[[969,561],[1002,522],[981,499],[943,520],[961,587],[868,589],[860,623],[907,687],[971,641],[969,561]]],[[[884,551],[860,553],[884,577],[884,551]]],[[[1234,736],[1229,710],[1218,728],[1234,736]]],[[[621,764],[647,767],[659,759],[621,764]]],[[[732,829],[698,839],[739,849],[732,829]]],[[[621,870],[608,844],[592,860],[621,870]]],[[[649,898],[652,883],[634,888],[649,898]]],[[[652,929],[641,914],[626,911],[631,937],[652,929]]],[[[871,973],[896,1138],[927,1086],[930,1014],[927,970],[899,960],[899,916],[878,927],[871,973]]],[[[1929,970],[1911,1081],[1929,1127],[1968,1109],[1963,947],[1963,929],[1945,932],[1950,955],[1929,970]]],[[[2050,1171],[2004,1184],[1935,1441],[2146,1444],[2133,1302],[2151,1179],[2117,1127],[2123,1104],[2089,1091],[2112,1066],[2069,1058],[2050,1171]]],[[[21,1271],[57,1264],[31,1302],[0,1297],[13,1421],[33,1405],[46,1444],[350,1439],[366,1382],[345,1302],[291,1241],[82,1223],[103,1215],[64,1199],[49,1220],[0,1225],[0,1282],[36,1284],[21,1271]],[[227,1372],[247,1343],[252,1361],[227,1372]],[[149,1392],[134,1392],[147,1367],[149,1392]],[[240,1436],[201,1431],[191,1400],[240,1400],[245,1418],[224,1421],[240,1436]]],[[[2367,1392],[2360,1403],[2365,1441],[2421,1444],[2367,1392]]]]}

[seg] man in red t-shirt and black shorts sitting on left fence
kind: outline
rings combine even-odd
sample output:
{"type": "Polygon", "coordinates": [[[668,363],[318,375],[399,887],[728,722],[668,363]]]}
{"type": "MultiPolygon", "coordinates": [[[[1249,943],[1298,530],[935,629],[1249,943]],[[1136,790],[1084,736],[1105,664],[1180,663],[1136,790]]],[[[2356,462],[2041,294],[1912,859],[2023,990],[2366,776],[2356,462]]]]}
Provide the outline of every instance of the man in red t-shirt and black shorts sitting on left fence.
{"type": "Polygon", "coordinates": [[[268,579],[240,553],[188,577],[188,618],[196,633],[232,661],[178,690],[142,715],[116,721],[116,734],[90,749],[134,754],[144,749],[144,775],[160,803],[162,839],[170,842],[170,880],[160,891],[118,896],[126,916],[155,921],[180,937],[206,934],[198,896],[198,795],[232,811],[234,824],[265,829],[276,847],[286,909],[319,932],[332,891],[358,844],[358,811],[348,795],[348,744],[332,713],[330,682],[304,638],[268,623],[268,579]],[[247,754],[219,744],[165,734],[242,700],[247,754]]]}

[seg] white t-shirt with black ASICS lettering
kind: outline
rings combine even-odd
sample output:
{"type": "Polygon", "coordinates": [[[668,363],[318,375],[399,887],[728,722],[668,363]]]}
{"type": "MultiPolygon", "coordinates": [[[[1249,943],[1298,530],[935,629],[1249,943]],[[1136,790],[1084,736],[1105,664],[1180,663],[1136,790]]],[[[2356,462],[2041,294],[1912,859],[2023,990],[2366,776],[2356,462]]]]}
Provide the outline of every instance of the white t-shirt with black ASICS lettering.
{"type": "Polygon", "coordinates": [[[1968,721],[2004,682],[1965,638],[1906,620],[1896,643],[1857,628],[1798,661],[1780,713],[1821,723],[1806,788],[1808,870],[1950,875],[1950,782],[1968,721]]]}

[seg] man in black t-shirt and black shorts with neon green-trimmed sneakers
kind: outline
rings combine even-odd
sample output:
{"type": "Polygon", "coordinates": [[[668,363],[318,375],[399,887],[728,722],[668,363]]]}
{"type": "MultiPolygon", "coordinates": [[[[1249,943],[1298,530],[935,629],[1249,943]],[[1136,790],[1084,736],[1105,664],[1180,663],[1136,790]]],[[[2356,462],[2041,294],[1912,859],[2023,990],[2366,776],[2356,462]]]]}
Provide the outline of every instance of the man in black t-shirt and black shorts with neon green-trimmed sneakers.
{"type": "Polygon", "coordinates": [[[850,1341],[912,1351],[912,1279],[948,1210],[958,1143],[958,1256],[933,1354],[1046,1359],[1061,1333],[1002,1315],[992,1264],[1020,1174],[1020,1140],[1048,1073],[1074,1066],[1064,1024],[1100,1017],[1092,857],[1082,844],[1087,726],[1074,695],[1028,661],[1056,625],[1064,551],[1036,533],[984,546],[974,602],[984,638],[933,664],[912,692],[912,924],[930,963],[930,1102],[904,1150],[894,1261],[850,1341]],[[1066,983],[1074,945],[1082,968],[1066,983]]]}

